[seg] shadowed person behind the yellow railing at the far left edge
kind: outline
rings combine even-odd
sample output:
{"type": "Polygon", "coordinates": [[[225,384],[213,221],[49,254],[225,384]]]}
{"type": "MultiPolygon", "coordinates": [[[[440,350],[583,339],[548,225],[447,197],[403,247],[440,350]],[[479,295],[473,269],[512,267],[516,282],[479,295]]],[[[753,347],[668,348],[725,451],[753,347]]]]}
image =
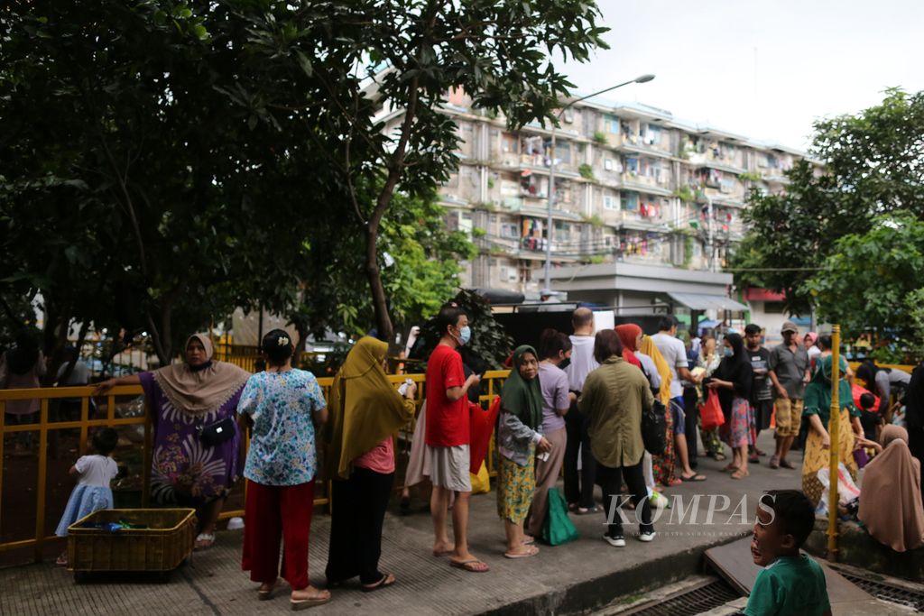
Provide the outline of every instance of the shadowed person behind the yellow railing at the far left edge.
{"type": "MultiPolygon", "coordinates": [[[[33,389],[39,387],[45,375],[45,357],[35,336],[25,328],[16,334],[13,348],[0,356],[0,389],[33,389]]],[[[35,414],[42,407],[38,398],[31,400],[10,400],[6,403],[6,425],[15,426],[35,423],[35,414]]],[[[30,432],[15,434],[14,454],[27,454],[30,447],[30,432]]]]}

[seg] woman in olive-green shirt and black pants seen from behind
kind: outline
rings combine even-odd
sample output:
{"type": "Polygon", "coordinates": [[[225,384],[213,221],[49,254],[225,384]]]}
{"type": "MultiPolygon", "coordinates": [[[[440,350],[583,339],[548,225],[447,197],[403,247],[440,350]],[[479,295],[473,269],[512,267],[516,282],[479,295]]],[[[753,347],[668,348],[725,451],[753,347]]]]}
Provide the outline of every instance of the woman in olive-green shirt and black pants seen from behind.
{"type": "Polygon", "coordinates": [[[597,460],[597,477],[603,488],[603,511],[607,531],[603,540],[616,548],[626,546],[620,499],[623,479],[632,494],[637,513],[640,506],[640,541],[654,538],[651,503],[642,470],[645,445],[641,437],[642,411],[654,404],[648,379],[622,357],[622,344],[615,332],[603,330],[594,340],[593,355],[600,368],[584,381],[577,407],[588,419],[590,449],[597,460]]]}

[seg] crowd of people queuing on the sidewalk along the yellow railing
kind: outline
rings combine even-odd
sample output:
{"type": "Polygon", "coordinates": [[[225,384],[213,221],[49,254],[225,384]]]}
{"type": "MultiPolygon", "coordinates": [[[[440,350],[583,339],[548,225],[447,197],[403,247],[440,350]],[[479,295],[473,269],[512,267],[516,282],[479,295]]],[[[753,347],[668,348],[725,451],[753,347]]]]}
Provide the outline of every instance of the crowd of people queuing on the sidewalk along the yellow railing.
{"type": "MultiPolygon", "coordinates": [[[[427,364],[425,403],[416,422],[407,485],[424,477],[432,483],[433,556],[448,557],[451,566],[463,571],[484,573],[489,564],[468,549],[471,477],[484,460],[474,443],[485,435],[474,433],[469,420],[473,408],[482,412],[474,404],[480,374],[464,365],[460,355],[471,337],[465,311],[447,304],[435,319],[441,337],[427,364]]],[[[707,480],[697,472],[698,437],[703,454],[717,461],[728,460],[727,446],[731,457],[723,471],[744,479],[748,465],[760,464],[765,456],[757,436],[770,428],[774,414],[775,450],[769,466],[796,469],[792,452],[804,448],[802,492],[811,507],[821,498],[818,471],[828,464],[830,448],[839,448],[855,478],[862,458],[855,452],[863,449],[874,457],[867,465],[857,518],[894,550],[924,543],[924,370],[909,375],[868,362],[854,375],[842,357],[842,429],[839,442],[832,443],[828,336],[809,333],[799,339],[796,325],[786,321],[783,343],[768,349],[761,344],[763,331],[757,324],[748,324],[743,335],[725,332],[718,341],[708,333],[678,332],[672,315],[664,316],[650,336],[633,323],[598,332],[588,308],[574,311],[572,327],[570,335],[542,332],[538,348],[517,347],[496,422],[490,422],[490,429],[496,426],[497,512],[505,529],[506,558],[540,552],[537,543],[550,490],[561,475],[567,510],[605,516],[602,539],[617,548],[626,546],[626,530],[612,512],[626,504],[625,484],[630,506],[638,513],[634,535],[650,542],[656,537],[651,508],[664,498],[663,490],[707,480]],[[855,377],[869,388],[858,397],[850,384],[855,377]],[[890,405],[896,391],[904,393],[904,412],[890,405]],[[711,396],[723,416],[718,429],[705,429],[699,422],[699,408],[711,396]],[[667,409],[666,447],[651,454],[643,442],[641,417],[656,400],[667,409]],[[595,485],[602,487],[603,506],[595,499],[595,485]],[[885,500],[897,506],[874,506],[885,500]]],[[[106,380],[97,391],[127,384],[142,387],[154,419],[152,493],[158,502],[197,509],[197,548],[213,544],[228,490],[238,477],[246,478],[242,568],[260,584],[258,598],[271,598],[280,579],[291,587],[293,609],[327,602],[330,588],[357,577],[364,591],[394,585],[395,574],[379,570],[383,518],[395,484],[392,435],[414,417],[416,385],[408,382],[395,390],[385,372],[387,344],[371,336],[350,350],[326,400],[314,376],[293,367],[295,345],[288,333],[269,332],[261,348],[266,369],[250,375],[214,360],[209,336],[195,334],[186,344],[185,362],[106,380]],[[250,430],[250,443],[241,465],[244,429],[250,430]],[[336,502],[327,590],[310,586],[308,576],[319,448],[325,451],[322,477],[333,480],[336,502]]],[[[23,375],[16,378],[34,379],[43,365],[41,355],[35,355],[5,356],[5,369],[23,375]]],[[[28,410],[14,403],[6,407],[13,416],[28,410]]],[[[98,454],[81,457],[71,469],[79,486],[58,527],[62,536],[79,516],[112,506],[107,490],[116,475],[110,457],[115,432],[97,432],[94,445],[98,454]]],[[[803,507],[797,499],[790,504],[803,507]]],[[[66,562],[63,554],[59,563],[66,562]]]]}

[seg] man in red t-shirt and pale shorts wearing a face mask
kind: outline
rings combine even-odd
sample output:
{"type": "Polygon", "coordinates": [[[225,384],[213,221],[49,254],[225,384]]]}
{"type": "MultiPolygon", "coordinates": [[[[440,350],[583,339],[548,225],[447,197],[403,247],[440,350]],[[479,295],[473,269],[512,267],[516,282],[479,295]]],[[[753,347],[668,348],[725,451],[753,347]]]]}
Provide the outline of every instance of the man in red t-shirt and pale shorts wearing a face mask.
{"type": "Polygon", "coordinates": [[[468,500],[471,498],[471,478],[468,475],[468,388],[477,385],[480,377],[465,378],[462,357],[456,349],[468,343],[471,330],[468,316],[456,306],[447,304],[436,317],[442,338],[427,362],[427,456],[433,493],[430,511],[433,516],[433,555],[450,556],[450,564],[473,573],[489,567],[468,551],[468,500]],[[456,492],[453,505],[453,535],[449,541],[446,520],[449,494],[456,492]]]}

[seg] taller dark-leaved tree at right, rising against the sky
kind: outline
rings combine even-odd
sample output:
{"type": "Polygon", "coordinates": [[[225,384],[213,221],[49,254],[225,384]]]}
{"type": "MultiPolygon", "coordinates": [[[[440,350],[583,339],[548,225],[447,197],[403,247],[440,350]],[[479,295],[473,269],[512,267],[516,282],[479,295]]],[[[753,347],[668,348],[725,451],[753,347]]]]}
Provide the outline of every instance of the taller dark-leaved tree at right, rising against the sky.
{"type": "Polygon", "coordinates": [[[749,230],[731,268],[742,285],[786,295],[787,308],[812,305],[807,281],[837,240],[868,232],[881,214],[907,211],[924,219],[924,92],[886,91],[857,115],[815,123],[808,160],[786,172],[781,195],[751,190],[749,230]]]}

